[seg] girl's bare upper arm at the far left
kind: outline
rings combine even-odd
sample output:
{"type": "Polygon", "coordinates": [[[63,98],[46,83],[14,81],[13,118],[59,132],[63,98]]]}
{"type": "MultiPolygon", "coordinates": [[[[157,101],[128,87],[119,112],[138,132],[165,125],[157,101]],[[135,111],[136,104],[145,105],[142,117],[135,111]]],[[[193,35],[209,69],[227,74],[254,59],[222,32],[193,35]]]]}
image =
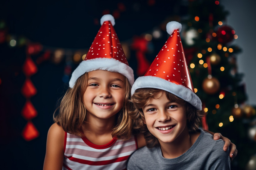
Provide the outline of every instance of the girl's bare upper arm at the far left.
{"type": "Polygon", "coordinates": [[[47,135],[46,153],[43,170],[61,170],[64,158],[65,132],[57,123],[54,123],[47,135]]]}

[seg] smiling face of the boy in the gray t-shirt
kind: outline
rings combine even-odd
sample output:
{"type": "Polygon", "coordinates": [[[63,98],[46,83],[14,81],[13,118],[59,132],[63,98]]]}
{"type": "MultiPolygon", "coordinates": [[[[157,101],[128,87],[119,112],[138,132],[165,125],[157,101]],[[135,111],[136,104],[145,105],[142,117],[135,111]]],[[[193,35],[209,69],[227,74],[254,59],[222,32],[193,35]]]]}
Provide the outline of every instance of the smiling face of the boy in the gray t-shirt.
{"type": "Polygon", "coordinates": [[[186,106],[168,100],[163,92],[148,100],[143,113],[144,123],[160,144],[174,142],[184,131],[188,131],[186,106]]]}

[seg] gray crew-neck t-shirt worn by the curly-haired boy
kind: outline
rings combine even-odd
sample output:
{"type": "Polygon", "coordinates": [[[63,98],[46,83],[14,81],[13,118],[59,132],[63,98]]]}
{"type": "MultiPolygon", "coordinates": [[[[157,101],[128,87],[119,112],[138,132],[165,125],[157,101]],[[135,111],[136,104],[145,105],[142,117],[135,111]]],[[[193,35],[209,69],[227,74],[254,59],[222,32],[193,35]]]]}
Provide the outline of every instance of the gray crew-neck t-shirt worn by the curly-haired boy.
{"type": "Polygon", "coordinates": [[[201,131],[199,137],[185,153],[173,159],[162,156],[161,148],[142,147],[129,158],[127,170],[176,170],[176,169],[230,169],[229,149],[223,150],[223,140],[201,131]]]}

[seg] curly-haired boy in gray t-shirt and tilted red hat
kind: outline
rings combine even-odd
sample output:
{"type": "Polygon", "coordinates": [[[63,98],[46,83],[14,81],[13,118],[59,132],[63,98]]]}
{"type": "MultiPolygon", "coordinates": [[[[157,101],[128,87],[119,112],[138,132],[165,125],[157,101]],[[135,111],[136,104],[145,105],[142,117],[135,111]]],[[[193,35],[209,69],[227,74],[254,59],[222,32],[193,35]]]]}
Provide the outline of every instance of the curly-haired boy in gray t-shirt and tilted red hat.
{"type": "Polygon", "coordinates": [[[224,141],[198,129],[205,113],[194,93],[180,30],[180,23],[167,24],[170,38],[133,84],[130,116],[147,147],[130,156],[127,169],[230,169],[224,141]]]}

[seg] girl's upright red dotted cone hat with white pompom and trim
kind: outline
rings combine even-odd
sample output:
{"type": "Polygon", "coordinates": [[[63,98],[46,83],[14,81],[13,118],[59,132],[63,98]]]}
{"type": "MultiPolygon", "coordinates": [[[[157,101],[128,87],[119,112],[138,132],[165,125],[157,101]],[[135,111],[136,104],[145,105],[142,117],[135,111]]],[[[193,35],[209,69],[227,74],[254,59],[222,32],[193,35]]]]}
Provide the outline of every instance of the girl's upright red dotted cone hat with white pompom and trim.
{"type": "Polygon", "coordinates": [[[133,69],[129,66],[123,48],[115,32],[114,17],[110,14],[101,17],[101,27],[89,48],[84,61],[73,71],[69,87],[73,88],[76,80],[86,72],[106,70],[123,74],[134,83],[133,69]]]}

